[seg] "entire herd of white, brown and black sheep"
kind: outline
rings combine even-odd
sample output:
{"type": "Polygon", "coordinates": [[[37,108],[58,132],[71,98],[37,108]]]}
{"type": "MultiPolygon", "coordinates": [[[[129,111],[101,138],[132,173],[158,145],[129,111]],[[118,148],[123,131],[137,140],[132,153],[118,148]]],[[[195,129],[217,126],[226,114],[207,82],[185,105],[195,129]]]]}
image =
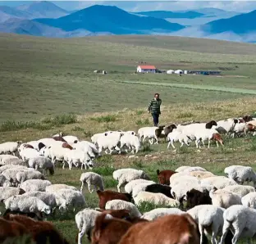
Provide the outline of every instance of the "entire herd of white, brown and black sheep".
{"type": "Polygon", "coordinates": [[[158,182],[140,169],[117,169],[112,177],[117,191],[104,187],[104,178],[91,171],[81,173],[80,189],[47,179],[56,162],[92,169],[94,159],[113,151],[137,153],[147,139],[151,144],[165,138],[167,147],[181,142],[213,140],[223,145],[223,134],[232,137],[254,133],[250,116],[208,123],[170,124],[135,131],[97,133],[92,142],[62,133],[31,142],[0,144],[0,201],[6,211],[0,218],[0,242],[28,235],[35,243],[68,243],[44,215],[78,211],[77,242],[87,235],[90,242],[235,244],[241,237],[256,237],[256,174],[249,166],[232,165],[217,176],[201,167],[182,166],[175,171],[157,170],[158,182]],[[244,185],[246,183],[246,185],[244,185]],[[254,186],[249,186],[253,183],[254,186]],[[98,195],[98,209],[86,207],[83,189],[98,195]],[[150,203],[155,209],[141,213],[150,203]],[[81,210],[83,209],[83,210],[81,210]]]}

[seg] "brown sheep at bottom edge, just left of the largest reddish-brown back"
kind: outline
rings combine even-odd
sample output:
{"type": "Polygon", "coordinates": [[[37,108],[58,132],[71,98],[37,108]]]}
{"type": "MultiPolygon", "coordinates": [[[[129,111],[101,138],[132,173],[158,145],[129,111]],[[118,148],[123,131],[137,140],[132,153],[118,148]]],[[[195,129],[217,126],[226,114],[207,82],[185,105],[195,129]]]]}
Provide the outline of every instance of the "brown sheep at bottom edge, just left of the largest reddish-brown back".
{"type": "Polygon", "coordinates": [[[95,227],[91,236],[92,244],[115,244],[133,225],[139,222],[148,222],[146,219],[105,219],[106,214],[99,215],[95,221],[95,227]]]}

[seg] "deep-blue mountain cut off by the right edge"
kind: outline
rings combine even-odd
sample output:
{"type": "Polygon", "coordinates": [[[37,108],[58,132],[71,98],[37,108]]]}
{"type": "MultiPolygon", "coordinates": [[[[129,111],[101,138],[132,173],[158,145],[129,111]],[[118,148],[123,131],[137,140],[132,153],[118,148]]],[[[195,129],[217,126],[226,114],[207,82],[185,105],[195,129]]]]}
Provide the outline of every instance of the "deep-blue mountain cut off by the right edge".
{"type": "Polygon", "coordinates": [[[202,30],[210,34],[233,32],[235,34],[248,34],[256,31],[256,10],[240,14],[229,19],[214,20],[202,26],[202,30]]]}

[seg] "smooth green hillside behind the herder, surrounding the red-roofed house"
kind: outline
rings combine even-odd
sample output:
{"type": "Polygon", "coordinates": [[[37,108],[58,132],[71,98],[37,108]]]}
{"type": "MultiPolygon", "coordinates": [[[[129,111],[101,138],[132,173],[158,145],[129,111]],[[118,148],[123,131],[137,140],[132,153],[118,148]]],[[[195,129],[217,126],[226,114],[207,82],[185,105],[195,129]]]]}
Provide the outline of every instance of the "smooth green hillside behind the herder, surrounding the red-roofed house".
{"type": "Polygon", "coordinates": [[[219,88],[210,91],[205,85],[226,90],[255,88],[256,47],[245,43],[174,37],[51,39],[2,34],[0,52],[0,122],[145,107],[156,91],[167,105],[249,95],[222,93],[219,88]],[[231,77],[135,75],[140,61],[159,69],[222,70],[231,77]],[[107,70],[108,74],[94,74],[94,70],[107,70]],[[152,84],[120,84],[123,81],[152,84]],[[179,85],[171,88],[158,83],[179,85]],[[194,87],[192,93],[186,84],[201,85],[205,90],[194,87]]]}

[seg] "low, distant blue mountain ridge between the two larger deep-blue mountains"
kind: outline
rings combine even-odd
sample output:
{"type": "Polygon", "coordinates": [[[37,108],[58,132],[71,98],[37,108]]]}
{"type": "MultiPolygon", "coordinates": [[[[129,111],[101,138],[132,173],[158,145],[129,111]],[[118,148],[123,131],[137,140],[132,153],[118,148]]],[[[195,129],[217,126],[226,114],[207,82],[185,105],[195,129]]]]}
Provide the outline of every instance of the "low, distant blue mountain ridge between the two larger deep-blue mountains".
{"type": "Polygon", "coordinates": [[[151,16],[159,19],[195,19],[202,17],[203,14],[197,11],[139,11],[135,12],[135,14],[139,14],[142,16],[151,16]]]}

